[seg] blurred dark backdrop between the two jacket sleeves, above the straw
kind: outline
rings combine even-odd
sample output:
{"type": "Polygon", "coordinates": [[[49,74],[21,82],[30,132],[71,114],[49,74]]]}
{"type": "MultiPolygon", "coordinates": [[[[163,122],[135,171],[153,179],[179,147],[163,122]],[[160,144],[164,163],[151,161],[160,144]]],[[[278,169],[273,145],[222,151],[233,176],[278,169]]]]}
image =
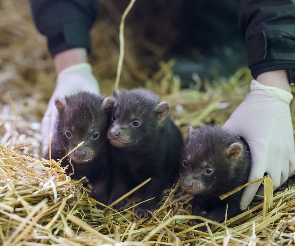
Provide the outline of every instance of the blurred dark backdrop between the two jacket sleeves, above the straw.
{"type": "MultiPolygon", "coordinates": [[[[119,26],[129,1],[102,0],[98,21],[119,26]]],[[[230,76],[246,66],[244,40],[238,28],[238,0],[136,1],[127,17],[139,66],[156,72],[159,60],[176,59],[173,72],[183,88],[192,75],[230,76]]],[[[95,27],[94,27],[95,29],[95,27]]],[[[104,35],[104,33],[101,33],[104,35]]]]}

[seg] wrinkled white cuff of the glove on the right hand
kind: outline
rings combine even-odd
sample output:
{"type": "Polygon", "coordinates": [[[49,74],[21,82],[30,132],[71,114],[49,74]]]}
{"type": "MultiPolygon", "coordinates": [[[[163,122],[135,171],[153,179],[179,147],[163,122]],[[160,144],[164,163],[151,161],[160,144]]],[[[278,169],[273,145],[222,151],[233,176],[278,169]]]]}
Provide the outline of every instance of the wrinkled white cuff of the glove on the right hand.
{"type": "Polygon", "coordinates": [[[250,94],[267,95],[270,97],[283,100],[287,102],[288,104],[290,104],[291,100],[293,99],[293,95],[290,92],[287,92],[284,89],[280,89],[274,86],[265,86],[257,82],[255,79],[251,81],[250,88],[251,88],[250,94]]]}

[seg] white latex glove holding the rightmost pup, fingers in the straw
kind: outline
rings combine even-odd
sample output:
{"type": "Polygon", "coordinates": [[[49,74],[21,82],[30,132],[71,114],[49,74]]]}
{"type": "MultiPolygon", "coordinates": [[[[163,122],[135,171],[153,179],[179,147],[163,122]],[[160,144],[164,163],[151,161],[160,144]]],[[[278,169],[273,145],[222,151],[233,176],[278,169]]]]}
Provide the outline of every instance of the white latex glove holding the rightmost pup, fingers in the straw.
{"type": "MultiPolygon", "coordinates": [[[[280,187],[295,169],[294,135],[290,102],[292,94],[286,90],[265,86],[252,80],[251,92],[223,125],[242,136],[251,151],[249,181],[259,179],[266,172],[280,187]]],[[[260,182],[245,188],[240,202],[244,210],[252,201],[260,182]]]]}

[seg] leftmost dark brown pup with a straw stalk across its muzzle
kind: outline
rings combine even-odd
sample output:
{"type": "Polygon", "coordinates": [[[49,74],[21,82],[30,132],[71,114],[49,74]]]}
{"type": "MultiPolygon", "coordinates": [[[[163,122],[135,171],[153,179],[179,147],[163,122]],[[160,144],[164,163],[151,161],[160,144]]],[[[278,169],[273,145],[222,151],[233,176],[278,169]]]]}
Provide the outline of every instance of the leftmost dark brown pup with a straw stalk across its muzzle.
{"type": "MultiPolygon", "coordinates": [[[[58,119],[54,129],[52,158],[61,159],[82,141],[85,143],[69,154],[75,172],[72,178],[87,177],[92,186],[90,196],[102,203],[107,202],[110,167],[108,161],[107,129],[114,101],[110,97],[80,92],[56,99],[58,119]]],[[[49,158],[49,153],[45,158],[49,158]]],[[[64,159],[62,166],[69,165],[64,159]]],[[[72,173],[69,165],[67,174],[72,173]]]]}

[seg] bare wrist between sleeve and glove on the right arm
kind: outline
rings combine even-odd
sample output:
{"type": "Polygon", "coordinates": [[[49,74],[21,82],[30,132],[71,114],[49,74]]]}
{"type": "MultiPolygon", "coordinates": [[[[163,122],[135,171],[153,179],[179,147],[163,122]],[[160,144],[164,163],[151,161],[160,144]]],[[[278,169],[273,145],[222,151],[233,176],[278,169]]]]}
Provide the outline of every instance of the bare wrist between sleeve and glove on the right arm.
{"type": "Polygon", "coordinates": [[[265,86],[274,86],[291,92],[291,86],[288,81],[288,74],[286,70],[276,70],[264,72],[258,75],[257,82],[265,86]]]}

